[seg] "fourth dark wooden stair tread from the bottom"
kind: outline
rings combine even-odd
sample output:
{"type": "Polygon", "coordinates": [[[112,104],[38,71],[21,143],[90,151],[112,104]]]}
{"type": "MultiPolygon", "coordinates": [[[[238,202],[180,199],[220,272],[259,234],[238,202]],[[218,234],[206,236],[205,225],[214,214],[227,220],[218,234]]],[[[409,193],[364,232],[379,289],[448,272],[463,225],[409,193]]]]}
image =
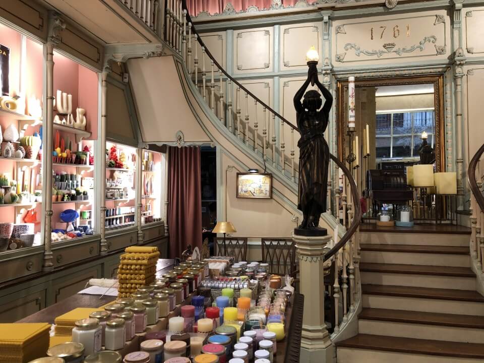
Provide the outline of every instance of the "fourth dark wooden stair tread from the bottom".
{"type": "Polygon", "coordinates": [[[366,272],[475,277],[475,274],[469,267],[360,263],[359,270],[366,272]]]}

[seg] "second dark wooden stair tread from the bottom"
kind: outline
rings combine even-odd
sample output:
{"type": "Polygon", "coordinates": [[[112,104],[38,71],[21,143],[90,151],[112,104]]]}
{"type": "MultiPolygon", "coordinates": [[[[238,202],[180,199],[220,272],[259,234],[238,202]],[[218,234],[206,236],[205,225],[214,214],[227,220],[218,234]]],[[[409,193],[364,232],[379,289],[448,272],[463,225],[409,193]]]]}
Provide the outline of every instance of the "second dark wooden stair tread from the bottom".
{"type": "Polygon", "coordinates": [[[484,316],[364,308],[358,319],[484,329],[484,316]]]}

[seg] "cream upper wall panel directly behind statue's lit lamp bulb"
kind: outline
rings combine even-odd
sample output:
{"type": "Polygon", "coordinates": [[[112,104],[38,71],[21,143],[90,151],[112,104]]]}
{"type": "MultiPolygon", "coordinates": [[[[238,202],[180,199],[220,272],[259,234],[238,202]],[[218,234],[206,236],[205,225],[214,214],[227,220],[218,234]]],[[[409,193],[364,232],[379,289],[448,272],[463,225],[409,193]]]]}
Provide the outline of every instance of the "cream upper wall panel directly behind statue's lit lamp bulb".
{"type": "Polygon", "coordinates": [[[280,30],[281,71],[307,68],[306,52],[311,46],[316,48],[321,57],[320,37],[320,23],[282,25],[280,30]]]}

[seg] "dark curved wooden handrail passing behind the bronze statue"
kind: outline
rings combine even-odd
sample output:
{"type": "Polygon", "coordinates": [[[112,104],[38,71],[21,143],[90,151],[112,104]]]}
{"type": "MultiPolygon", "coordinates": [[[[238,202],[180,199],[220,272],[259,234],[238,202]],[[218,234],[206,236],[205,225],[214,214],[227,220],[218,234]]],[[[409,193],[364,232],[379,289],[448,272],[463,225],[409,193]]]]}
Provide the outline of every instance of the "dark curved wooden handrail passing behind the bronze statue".
{"type": "MultiPolygon", "coordinates": [[[[187,7],[186,0],[183,0],[181,4],[182,4],[181,5],[182,6],[182,9],[186,11],[187,23],[192,25],[192,27],[191,27],[192,28],[192,32],[193,32],[194,35],[197,36],[196,38],[197,38],[198,43],[200,44],[200,46],[202,46],[202,48],[204,49],[204,51],[207,54],[207,56],[211,59],[211,61],[219,69],[219,71],[222,72],[225,75],[225,77],[227,77],[230,81],[232,81],[234,84],[236,84],[240,89],[243,89],[253,99],[257,100],[263,107],[265,107],[266,109],[268,109],[276,117],[278,117],[280,120],[282,120],[282,122],[284,122],[285,124],[289,125],[292,129],[294,129],[297,132],[299,132],[299,129],[295,125],[293,125],[292,123],[290,123],[287,119],[285,119],[282,115],[280,115],[278,112],[276,112],[274,109],[272,109],[269,105],[265,104],[262,100],[260,100],[251,91],[249,91],[247,88],[245,88],[243,85],[241,85],[236,79],[234,79],[232,76],[230,76],[223,69],[223,67],[217,62],[217,60],[212,55],[212,53],[210,53],[210,51],[207,49],[205,43],[203,42],[203,40],[200,37],[200,35],[197,32],[197,30],[195,29],[195,26],[194,26],[194,24],[192,22],[192,18],[191,18],[190,14],[189,14],[189,11],[188,11],[188,7],[187,7]]],[[[354,178],[351,175],[351,172],[348,170],[348,168],[344,165],[343,162],[341,162],[333,154],[330,153],[329,155],[330,155],[330,158],[336,163],[336,165],[338,165],[338,167],[341,168],[341,170],[345,174],[346,178],[348,179],[348,182],[349,182],[349,185],[350,185],[350,189],[351,189],[351,196],[352,196],[352,199],[353,199],[353,206],[352,207],[353,207],[353,210],[354,210],[354,214],[353,214],[353,218],[352,218],[351,224],[350,224],[349,228],[346,230],[346,233],[341,237],[341,239],[338,241],[338,243],[330,251],[328,251],[325,254],[324,261],[327,261],[331,257],[333,257],[334,254],[336,254],[336,252],[338,252],[346,244],[346,242],[351,238],[351,236],[354,234],[354,232],[358,228],[358,225],[359,225],[360,220],[361,220],[361,206],[359,204],[358,189],[356,187],[356,183],[354,181],[354,178]]]]}

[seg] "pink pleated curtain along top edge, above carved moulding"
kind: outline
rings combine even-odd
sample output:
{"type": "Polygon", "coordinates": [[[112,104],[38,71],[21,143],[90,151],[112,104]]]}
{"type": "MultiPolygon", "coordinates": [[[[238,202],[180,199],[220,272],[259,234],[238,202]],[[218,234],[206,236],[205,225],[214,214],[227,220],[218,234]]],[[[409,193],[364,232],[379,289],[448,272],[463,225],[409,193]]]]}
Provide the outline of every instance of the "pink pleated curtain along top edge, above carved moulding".
{"type": "MultiPolygon", "coordinates": [[[[316,0],[309,0],[312,4],[316,0]]],[[[211,15],[221,14],[227,4],[230,3],[236,12],[246,11],[249,7],[255,6],[259,10],[270,9],[272,0],[187,0],[191,16],[197,16],[205,11],[211,15]]],[[[294,6],[297,0],[282,0],[282,6],[294,6]]]]}

